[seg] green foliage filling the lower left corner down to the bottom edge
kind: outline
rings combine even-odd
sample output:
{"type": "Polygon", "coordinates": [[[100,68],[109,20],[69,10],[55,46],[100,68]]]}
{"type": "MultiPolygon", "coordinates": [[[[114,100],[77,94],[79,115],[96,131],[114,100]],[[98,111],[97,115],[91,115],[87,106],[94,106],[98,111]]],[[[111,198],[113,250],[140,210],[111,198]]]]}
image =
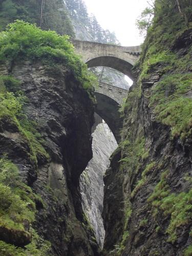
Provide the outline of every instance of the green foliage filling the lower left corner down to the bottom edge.
{"type": "Polygon", "coordinates": [[[40,238],[30,227],[35,220],[36,202],[40,201],[41,204],[43,202],[22,182],[17,166],[6,156],[0,159],[0,198],[0,228],[3,228],[4,234],[14,236],[15,240],[25,238],[28,240],[25,248],[0,241],[0,254],[48,255],[50,243],[40,238]]]}

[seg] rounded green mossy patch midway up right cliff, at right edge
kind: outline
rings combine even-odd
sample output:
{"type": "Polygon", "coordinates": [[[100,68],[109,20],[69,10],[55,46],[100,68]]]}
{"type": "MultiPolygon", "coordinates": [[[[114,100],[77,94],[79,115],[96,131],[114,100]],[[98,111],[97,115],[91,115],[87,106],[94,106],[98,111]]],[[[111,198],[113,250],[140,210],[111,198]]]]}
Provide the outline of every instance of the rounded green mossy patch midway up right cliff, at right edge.
{"type": "Polygon", "coordinates": [[[173,137],[191,135],[192,100],[187,94],[191,90],[191,74],[174,74],[165,76],[152,91],[156,118],[172,127],[173,137]]]}

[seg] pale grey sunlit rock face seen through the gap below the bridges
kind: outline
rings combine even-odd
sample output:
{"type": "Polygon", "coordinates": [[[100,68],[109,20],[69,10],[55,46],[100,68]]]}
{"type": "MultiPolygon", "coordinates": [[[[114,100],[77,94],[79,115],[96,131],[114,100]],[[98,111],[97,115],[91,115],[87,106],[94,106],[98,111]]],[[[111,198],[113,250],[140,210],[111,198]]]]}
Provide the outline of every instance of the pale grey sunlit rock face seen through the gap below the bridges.
{"type": "Polygon", "coordinates": [[[98,244],[102,248],[105,234],[101,217],[103,209],[103,175],[109,167],[109,158],[117,147],[117,142],[108,125],[98,116],[95,126],[96,129],[92,134],[93,158],[81,175],[80,188],[83,211],[88,216],[98,244]],[[101,122],[98,123],[98,120],[101,122]]]}

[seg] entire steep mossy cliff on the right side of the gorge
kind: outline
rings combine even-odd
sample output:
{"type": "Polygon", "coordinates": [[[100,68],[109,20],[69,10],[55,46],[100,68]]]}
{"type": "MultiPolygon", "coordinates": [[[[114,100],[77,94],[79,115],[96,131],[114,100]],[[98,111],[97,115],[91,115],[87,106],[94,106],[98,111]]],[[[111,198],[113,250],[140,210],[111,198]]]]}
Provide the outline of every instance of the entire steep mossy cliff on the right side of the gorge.
{"type": "Polygon", "coordinates": [[[104,177],[106,255],[192,253],[192,17],[172,3],[156,1],[104,177]]]}

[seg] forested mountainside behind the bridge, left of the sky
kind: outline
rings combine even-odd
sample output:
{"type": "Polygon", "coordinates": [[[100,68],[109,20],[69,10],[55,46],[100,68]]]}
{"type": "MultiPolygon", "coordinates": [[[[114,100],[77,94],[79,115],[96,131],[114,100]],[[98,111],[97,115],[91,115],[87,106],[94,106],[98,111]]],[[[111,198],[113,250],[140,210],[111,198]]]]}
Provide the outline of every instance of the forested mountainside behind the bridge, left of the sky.
{"type": "Polygon", "coordinates": [[[82,0],[3,0],[0,3],[0,30],[16,19],[36,24],[41,29],[54,30],[75,37],[72,21],[81,22],[94,41],[119,43],[115,33],[103,30],[94,15],[89,16],[82,0]]]}

